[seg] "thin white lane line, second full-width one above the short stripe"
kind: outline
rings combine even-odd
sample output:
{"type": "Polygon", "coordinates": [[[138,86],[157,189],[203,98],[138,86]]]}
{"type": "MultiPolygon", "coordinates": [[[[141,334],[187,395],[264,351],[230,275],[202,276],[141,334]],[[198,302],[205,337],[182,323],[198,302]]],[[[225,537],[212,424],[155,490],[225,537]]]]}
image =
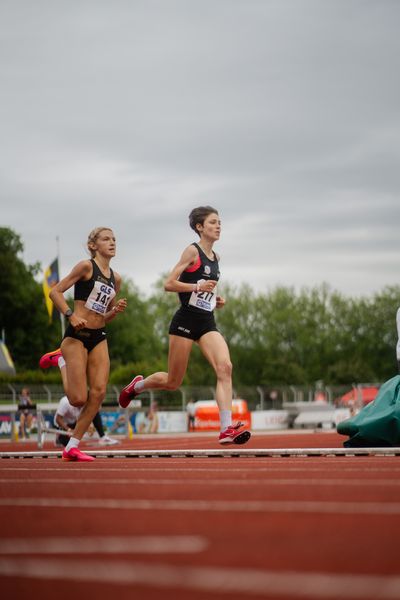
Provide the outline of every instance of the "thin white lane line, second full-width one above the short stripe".
{"type": "MultiPolygon", "coordinates": [[[[15,484],[38,484],[38,483],[51,483],[51,484],[60,484],[63,485],[65,483],[79,484],[82,485],[93,485],[93,484],[104,484],[104,478],[87,478],[85,479],[66,479],[64,477],[59,478],[51,478],[51,477],[32,477],[32,479],[21,479],[16,477],[4,477],[0,479],[0,484],[12,483],[15,484]]],[[[380,487],[400,487],[400,479],[285,479],[284,477],[279,479],[272,478],[259,478],[259,479],[251,479],[251,478],[243,478],[243,479],[210,479],[207,477],[197,478],[197,479],[139,479],[135,477],[124,478],[124,479],[112,479],[107,477],[107,485],[204,485],[207,484],[209,486],[223,486],[223,485],[234,485],[234,486],[248,486],[248,485],[256,485],[256,486],[321,486],[321,487],[371,487],[379,485],[380,487]]]]}

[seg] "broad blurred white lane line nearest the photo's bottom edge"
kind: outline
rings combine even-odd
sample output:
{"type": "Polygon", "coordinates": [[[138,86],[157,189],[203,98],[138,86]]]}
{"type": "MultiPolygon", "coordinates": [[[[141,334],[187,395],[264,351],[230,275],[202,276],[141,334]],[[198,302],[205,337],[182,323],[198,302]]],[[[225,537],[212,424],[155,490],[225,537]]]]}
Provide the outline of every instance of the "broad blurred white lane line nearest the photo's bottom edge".
{"type": "Polygon", "coordinates": [[[214,592],[227,596],[242,594],[265,598],[337,598],[341,600],[398,600],[400,577],[299,573],[226,567],[146,564],[130,561],[62,560],[56,558],[0,558],[0,574],[8,577],[85,581],[113,585],[143,585],[150,588],[179,588],[214,592]]]}

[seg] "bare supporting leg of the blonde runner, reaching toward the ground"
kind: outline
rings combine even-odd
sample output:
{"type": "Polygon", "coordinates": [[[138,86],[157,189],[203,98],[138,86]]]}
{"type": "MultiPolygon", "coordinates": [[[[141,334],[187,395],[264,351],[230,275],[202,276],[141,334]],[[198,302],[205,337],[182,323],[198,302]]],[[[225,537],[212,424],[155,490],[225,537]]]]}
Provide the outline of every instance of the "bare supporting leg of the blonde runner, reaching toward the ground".
{"type": "MultiPolygon", "coordinates": [[[[68,358],[66,359],[66,362],[68,365],[68,358]]],[[[87,375],[89,382],[89,395],[86,396],[87,400],[76,423],[73,433],[74,438],[81,440],[86,431],[89,429],[89,426],[106,395],[109,373],[110,359],[108,356],[108,345],[107,341],[104,340],[97,344],[97,346],[95,346],[88,354],[87,375]]],[[[71,381],[69,373],[68,381],[71,381]]],[[[72,387],[71,384],[70,387],[72,387]]]]}

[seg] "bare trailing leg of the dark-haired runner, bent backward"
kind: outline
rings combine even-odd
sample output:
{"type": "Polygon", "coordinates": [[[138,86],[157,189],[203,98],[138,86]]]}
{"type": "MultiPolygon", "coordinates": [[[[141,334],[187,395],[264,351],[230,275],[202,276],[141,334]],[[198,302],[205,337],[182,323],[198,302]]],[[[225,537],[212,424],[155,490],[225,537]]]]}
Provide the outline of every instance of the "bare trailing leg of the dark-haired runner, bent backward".
{"type": "Polygon", "coordinates": [[[168,373],[159,371],[141,382],[142,390],[176,390],[182,383],[189,362],[193,340],[178,335],[169,336],[168,373]]]}

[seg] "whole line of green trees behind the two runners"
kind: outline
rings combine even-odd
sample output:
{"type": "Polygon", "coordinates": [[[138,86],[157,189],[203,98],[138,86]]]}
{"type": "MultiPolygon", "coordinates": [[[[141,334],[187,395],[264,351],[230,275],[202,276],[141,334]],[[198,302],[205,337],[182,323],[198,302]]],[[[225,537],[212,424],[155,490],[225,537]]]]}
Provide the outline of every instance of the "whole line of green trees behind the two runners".
{"type": "MultiPolygon", "coordinates": [[[[39,371],[39,357],[59,346],[61,329],[57,316],[49,322],[38,281],[41,265],[26,265],[22,252],[21,237],[0,228],[0,331],[5,332],[17,372],[29,371],[32,378],[39,371]]],[[[279,286],[266,292],[228,283],[219,290],[227,303],[216,318],[230,347],[234,385],[378,382],[397,371],[400,286],[357,298],[326,283],[300,291],[279,286]]],[[[164,292],[163,276],[149,296],[131,280],[123,282],[120,295],[128,299],[128,308],[107,325],[113,383],[124,383],[133,373],[166,369],[168,326],[178,306],[177,295],[164,292]]],[[[184,383],[214,382],[211,368],[195,347],[184,383]]]]}

